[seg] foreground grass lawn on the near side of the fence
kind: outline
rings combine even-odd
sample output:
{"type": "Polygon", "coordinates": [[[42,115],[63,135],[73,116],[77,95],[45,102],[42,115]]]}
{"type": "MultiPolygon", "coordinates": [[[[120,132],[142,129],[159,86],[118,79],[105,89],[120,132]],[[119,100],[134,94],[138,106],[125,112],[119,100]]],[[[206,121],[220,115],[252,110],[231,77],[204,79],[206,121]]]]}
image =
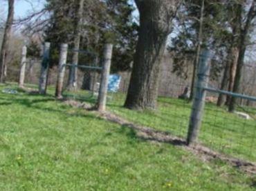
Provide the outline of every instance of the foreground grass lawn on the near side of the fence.
{"type": "Polygon", "coordinates": [[[0,121],[0,190],[256,189],[256,177],[226,163],[143,141],[51,94],[0,91],[0,121]]]}

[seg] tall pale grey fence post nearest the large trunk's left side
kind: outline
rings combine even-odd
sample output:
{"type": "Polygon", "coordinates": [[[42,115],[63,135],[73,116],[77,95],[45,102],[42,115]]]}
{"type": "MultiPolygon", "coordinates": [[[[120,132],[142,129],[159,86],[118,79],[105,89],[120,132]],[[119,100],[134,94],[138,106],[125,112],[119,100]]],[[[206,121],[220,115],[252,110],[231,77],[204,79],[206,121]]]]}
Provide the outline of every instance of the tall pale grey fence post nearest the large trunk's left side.
{"type": "Polygon", "coordinates": [[[100,81],[100,90],[98,97],[98,111],[104,112],[106,110],[107,103],[107,85],[109,81],[109,72],[111,66],[113,44],[106,44],[104,47],[104,61],[102,68],[102,77],[100,81]]]}

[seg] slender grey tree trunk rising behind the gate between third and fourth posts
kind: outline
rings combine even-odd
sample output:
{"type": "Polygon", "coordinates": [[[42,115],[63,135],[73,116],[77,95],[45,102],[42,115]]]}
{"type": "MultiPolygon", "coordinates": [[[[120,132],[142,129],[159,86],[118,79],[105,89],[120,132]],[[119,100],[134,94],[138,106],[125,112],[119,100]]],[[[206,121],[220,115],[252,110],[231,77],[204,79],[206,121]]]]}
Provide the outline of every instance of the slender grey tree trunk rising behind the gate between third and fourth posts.
{"type": "MultiPolygon", "coordinates": [[[[80,49],[80,39],[81,39],[81,30],[82,30],[82,14],[84,10],[84,0],[80,0],[77,6],[77,15],[76,15],[76,24],[74,29],[74,43],[72,57],[72,64],[78,64],[78,57],[79,57],[79,49],[80,49]]],[[[77,67],[71,67],[69,70],[68,75],[68,90],[77,90],[77,67]]]]}

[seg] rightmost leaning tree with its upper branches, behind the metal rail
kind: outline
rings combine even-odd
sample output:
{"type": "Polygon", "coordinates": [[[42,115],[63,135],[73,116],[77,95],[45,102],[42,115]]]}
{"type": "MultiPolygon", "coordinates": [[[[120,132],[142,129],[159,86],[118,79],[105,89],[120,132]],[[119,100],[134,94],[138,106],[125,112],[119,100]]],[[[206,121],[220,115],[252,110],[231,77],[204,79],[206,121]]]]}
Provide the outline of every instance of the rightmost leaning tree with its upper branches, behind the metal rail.
{"type": "MultiPolygon", "coordinates": [[[[239,5],[239,13],[242,14],[242,9],[246,10],[246,3],[243,5],[239,5]]],[[[255,19],[256,16],[256,6],[255,6],[255,0],[253,0],[250,3],[250,9],[246,13],[246,16],[243,18],[240,16],[239,22],[237,23],[239,26],[239,54],[238,54],[238,59],[237,59],[237,70],[235,73],[235,81],[234,81],[234,87],[232,89],[233,92],[239,92],[240,88],[240,82],[241,82],[241,72],[242,68],[244,66],[244,57],[246,53],[246,45],[248,43],[248,34],[250,32],[250,28],[253,26],[253,20],[255,19]]],[[[230,105],[228,106],[228,111],[229,112],[234,112],[235,111],[235,105],[237,103],[237,98],[232,97],[230,100],[230,105]]]]}

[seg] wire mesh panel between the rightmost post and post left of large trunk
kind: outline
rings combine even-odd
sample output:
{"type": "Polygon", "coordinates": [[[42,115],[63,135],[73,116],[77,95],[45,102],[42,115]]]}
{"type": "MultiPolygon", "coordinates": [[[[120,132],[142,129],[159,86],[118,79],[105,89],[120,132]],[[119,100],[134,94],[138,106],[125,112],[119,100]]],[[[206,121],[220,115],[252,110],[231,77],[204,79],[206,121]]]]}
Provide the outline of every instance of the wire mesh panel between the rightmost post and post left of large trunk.
{"type": "MultiPolygon", "coordinates": [[[[122,74],[122,77],[124,74],[122,74]]],[[[165,83],[165,82],[163,82],[165,83]]],[[[163,86],[163,84],[161,84],[163,86]]],[[[129,80],[122,79],[118,92],[108,93],[108,109],[131,122],[145,125],[154,130],[169,132],[176,137],[186,138],[192,103],[181,97],[189,86],[188,82],[170,79],[165,88],[159,90],[157,110],[128,110],[124,108],[129,80]],[[181,97],[179,99],[179,97],[181,97]]],[[[187,95],[190,92],[186,93],[187,95]]]]}

